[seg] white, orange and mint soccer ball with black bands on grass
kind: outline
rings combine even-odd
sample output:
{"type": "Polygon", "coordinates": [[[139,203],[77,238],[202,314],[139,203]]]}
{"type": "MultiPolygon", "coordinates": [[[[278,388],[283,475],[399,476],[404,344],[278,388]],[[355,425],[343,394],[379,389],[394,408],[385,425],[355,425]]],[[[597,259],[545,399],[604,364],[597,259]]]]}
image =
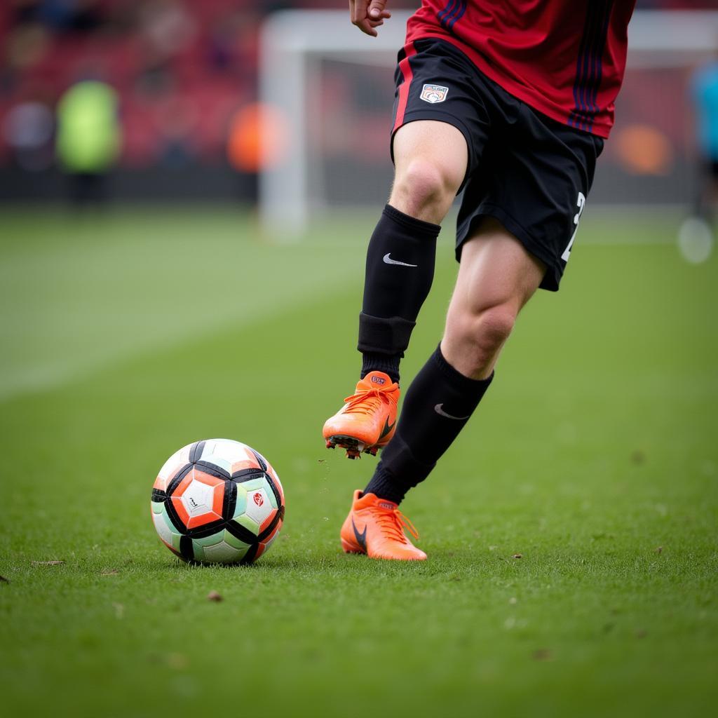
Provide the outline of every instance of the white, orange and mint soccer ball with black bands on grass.
{"type": "Polygon", "coordinates": [[[183,561],[251,564],[284,520],[284,490],[269,462],[232,439],[206,439],[172,454],[152,488],[159,538],[183,561]]]}

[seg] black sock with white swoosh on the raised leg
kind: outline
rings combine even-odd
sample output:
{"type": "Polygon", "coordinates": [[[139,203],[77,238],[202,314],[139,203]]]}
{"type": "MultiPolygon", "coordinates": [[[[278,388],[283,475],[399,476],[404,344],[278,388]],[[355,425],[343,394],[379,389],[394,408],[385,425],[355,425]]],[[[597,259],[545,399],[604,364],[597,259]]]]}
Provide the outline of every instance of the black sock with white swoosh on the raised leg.
{"type": "Polygon", "coordinates": [[[399,360],[432,287],[440,229],[391,205],[384,208],[366,254],[358,344],[362,376],[383,371],[398,381],[399,360]]]}

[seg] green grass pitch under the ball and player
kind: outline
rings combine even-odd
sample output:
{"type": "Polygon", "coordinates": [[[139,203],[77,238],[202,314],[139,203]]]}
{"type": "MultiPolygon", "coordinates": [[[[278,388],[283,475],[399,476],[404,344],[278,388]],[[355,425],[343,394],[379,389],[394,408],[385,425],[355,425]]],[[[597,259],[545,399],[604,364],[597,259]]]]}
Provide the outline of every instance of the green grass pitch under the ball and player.
{"type": "MultiPolygon", "coordinates": [[[[429,561],[402,565],[340,551],[375,460],[320,437],[358,372],[370,218],[270,246],[222,209],[4,210],[4,714],[713,712],[718,261],[681,261],[674,219],[587,213],[407,498],[429,561]],[[151,526],[157,470],[205,437],[284,483],[254,567],[187,567],[151,526]]],[[[441,332],[444,234],[405,380],[441,332]]]]}

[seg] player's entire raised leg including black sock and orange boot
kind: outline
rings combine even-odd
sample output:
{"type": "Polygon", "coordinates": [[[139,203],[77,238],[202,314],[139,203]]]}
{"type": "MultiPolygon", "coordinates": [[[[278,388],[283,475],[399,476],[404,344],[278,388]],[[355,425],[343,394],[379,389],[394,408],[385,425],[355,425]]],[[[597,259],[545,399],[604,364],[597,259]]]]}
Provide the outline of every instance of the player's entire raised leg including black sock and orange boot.
{"type": "Polygon", "coordinates": [[[376,454],[393,437],[399,360],[432,286],[437,222],[452,205],[467,168],[464,135],[448,123],[404,125],[393,149],[393,190],[366,258],[358,342],[361,378],[323,429],[327,447],[346,449],[350,459],[362,452],[376,454]]]}

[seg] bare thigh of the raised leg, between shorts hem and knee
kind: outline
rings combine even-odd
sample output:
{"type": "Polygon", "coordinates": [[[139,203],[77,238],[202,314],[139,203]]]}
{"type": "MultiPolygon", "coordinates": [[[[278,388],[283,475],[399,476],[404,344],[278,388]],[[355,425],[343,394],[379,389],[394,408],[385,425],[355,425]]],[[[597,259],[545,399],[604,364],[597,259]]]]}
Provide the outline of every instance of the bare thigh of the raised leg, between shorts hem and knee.
{"type": "Polygon", "coordinates": [[[455,195],[466,177],[469,148],[457,127],[437,120],[416,120],[394,134],[393,157],[398,181],[411,174],[433,173],[455,195]]]}

